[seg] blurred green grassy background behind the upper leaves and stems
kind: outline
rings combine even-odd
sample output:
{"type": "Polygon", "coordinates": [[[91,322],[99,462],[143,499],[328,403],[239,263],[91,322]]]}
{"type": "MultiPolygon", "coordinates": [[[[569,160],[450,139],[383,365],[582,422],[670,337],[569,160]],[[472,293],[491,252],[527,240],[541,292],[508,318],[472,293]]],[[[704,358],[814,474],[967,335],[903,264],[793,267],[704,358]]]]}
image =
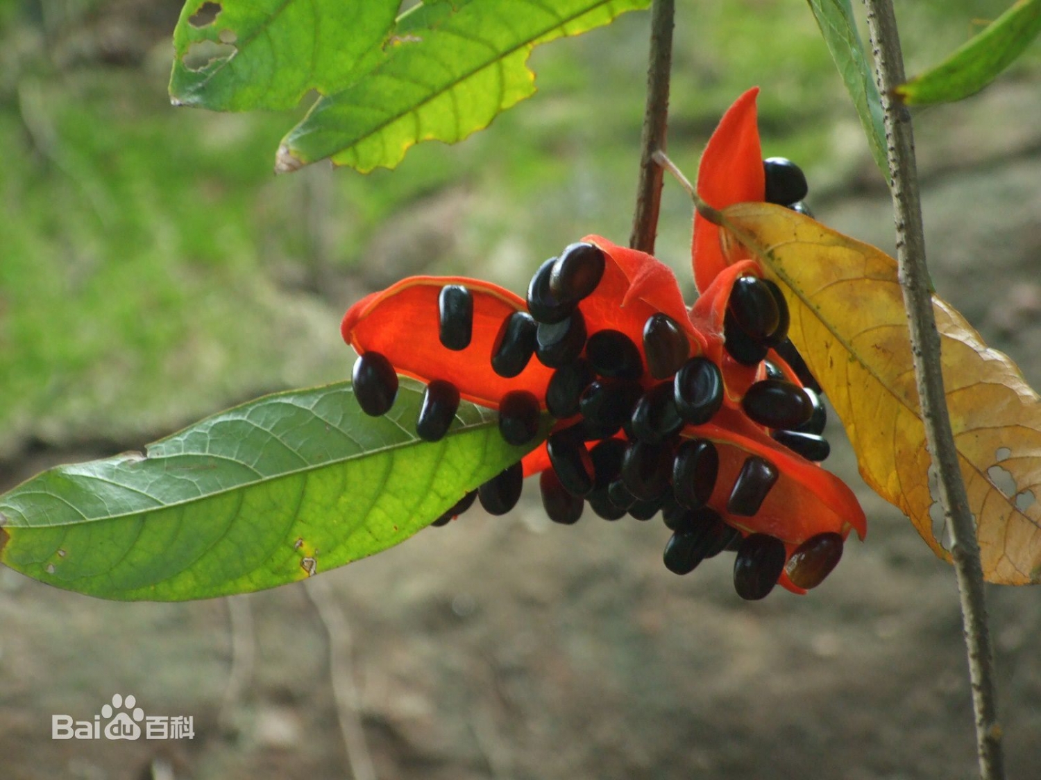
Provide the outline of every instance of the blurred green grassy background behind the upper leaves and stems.
{"type": "MultiPolygon", "coordinates": [[[[1006,5],[902,4],[909,72],[1006,5]]],[[[29,438],[139,441],[342,378],[338,319],[371,288],[423,270],[519,289],[578,235],[628,236],[646,15],[537,50],[539,94],[459,146],[424,145],[393,173],[276,178],[284,115],[170,105],[179,10],[0,3],[0,457],[29,438]]],[[[1039,62],[1035,47],[1011,78],[1039,62]]],[[[669,151],[684,170],[753,83],[767,154],[805,163],[818,192],[881,183],[813,17],[790,0],[678,3],[669,151]]],[[[688,279],[676,189],[659,254],[688,279]]]]}

